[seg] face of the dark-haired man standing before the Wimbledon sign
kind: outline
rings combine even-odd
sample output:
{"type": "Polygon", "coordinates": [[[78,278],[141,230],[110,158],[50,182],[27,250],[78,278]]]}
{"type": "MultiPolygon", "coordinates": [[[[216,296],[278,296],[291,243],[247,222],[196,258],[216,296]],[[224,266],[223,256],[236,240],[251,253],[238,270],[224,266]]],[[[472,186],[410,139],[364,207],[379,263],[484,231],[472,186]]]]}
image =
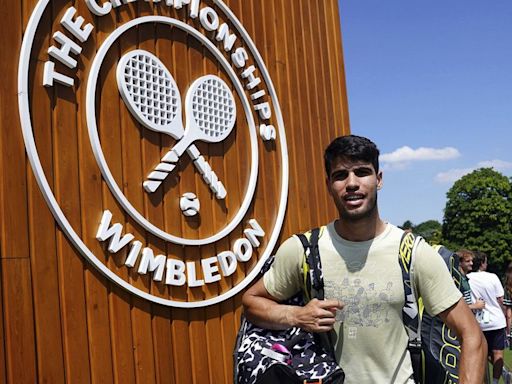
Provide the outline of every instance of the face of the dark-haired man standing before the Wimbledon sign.
{"type": "Polygon", "coordinates": [[[326,182],[340,218],[356,221],[377,214],[382,172],[376,174],[371,163],[337,158],[331,163],[326,182]]]}

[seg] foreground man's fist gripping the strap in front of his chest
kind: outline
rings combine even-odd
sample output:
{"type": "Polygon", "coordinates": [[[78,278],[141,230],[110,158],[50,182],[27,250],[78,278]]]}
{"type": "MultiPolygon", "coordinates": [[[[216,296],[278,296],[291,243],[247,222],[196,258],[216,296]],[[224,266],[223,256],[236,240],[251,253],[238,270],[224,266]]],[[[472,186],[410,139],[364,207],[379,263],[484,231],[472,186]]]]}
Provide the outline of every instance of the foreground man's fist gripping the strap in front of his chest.
{"type": "Polygon", "coordinates": [[[330,331],[336,321],[336,311],[345,305],[339,300],[311,300],[293,311],[292,323],[309,332],[330,331]]]}

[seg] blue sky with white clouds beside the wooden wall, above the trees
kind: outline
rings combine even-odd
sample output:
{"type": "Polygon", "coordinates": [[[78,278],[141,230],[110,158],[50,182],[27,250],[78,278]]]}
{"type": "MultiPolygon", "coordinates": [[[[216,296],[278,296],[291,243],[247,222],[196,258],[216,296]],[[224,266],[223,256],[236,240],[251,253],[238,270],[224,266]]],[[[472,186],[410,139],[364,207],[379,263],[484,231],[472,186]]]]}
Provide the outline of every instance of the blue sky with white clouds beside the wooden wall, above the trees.
{"type": "Polygon", "coordinates": [[[381,151],[381,216],[442,221],[446,192],[512,176],[512,1],[340,0],[351,131],[381,151]]]}

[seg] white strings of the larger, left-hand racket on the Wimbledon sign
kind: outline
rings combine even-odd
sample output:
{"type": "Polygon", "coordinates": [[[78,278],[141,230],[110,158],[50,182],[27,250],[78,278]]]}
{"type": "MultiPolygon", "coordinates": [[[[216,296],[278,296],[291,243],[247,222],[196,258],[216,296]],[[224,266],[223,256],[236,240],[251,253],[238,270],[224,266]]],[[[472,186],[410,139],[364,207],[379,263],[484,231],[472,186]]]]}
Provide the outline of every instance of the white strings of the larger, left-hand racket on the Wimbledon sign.
{"type": "Polygon", "coordinates": [[[124,81],[138,111],[151,123],[165,126],[175,118],[180,103],[169,74],[147,55],[134,55],[124,68],[124,81]]]}

